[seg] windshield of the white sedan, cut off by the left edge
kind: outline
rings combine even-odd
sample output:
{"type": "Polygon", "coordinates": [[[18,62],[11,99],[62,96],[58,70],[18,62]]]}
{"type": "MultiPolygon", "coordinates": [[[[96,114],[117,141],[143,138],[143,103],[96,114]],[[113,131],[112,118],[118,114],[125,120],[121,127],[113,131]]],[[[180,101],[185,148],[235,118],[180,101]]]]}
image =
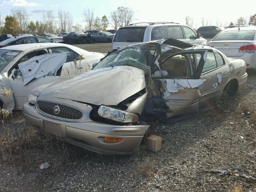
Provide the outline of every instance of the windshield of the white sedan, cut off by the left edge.
{"type": "Polygon", "coordinates": [[[20,53],[21,51],[0,49],[0,72],[20,53]]]}

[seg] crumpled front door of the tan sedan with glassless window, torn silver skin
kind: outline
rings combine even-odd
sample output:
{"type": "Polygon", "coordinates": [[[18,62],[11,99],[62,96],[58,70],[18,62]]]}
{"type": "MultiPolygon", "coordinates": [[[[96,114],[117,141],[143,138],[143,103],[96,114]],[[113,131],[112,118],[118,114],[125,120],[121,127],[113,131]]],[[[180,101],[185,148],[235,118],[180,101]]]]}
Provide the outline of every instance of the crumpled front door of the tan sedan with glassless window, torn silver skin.
{"type": "Polygon", "coordinates": [[[198,112],[200,88],[204,86],[204,79],[200,78],[200,74],[206,52],[205,50],[182,51],[160,62],[164,78],[155,78],[153,74],[153,89],[156,95],[166,101],[162,105],[166,118],[177,118],[198,112]],[[193,60],[194,58],[198,60],[193,60]]]}

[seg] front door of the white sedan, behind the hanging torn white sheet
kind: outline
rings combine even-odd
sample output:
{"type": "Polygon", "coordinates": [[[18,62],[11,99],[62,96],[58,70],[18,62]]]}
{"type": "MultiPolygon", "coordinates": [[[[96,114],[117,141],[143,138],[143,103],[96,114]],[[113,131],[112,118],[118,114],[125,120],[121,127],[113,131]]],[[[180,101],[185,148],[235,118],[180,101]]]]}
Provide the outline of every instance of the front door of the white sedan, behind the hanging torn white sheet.
{"type": "Polygon", "coordinates": [[[60,78],[60,76],[44,76],[44,77],[32,80],[25,86],[23,85],[22,74],[20,74],[20,76],[18,76],[15,79],[12,78],[11,72],[14,68],[18,69],[19,63],[29,60],[34,56],[39,56],[47,53],[48,53],[47,50],[37,50],[37,51],[30,52],[24,55],[22,58],[20,58],[20,60],[16,62],[14,66],[12,66],[12,68],[10,68],[10,70],[8,71],[8,80],[11,84],[12,91],[13,91],[15,110],[22,110],[23,104],[28,101],[28,93],[32,89],[38,86],[41,86],[43,84],[53,82],[54,80],[57,80],[60,78]]]}

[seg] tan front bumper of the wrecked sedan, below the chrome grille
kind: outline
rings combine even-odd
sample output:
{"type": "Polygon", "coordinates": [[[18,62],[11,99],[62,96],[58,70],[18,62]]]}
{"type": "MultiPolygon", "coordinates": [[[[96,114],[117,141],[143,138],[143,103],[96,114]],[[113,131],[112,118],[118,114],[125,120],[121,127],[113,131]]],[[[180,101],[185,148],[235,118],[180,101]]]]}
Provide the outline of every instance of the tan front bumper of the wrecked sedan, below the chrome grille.
{"type": "MultiPolygon", "coordinates": [[[[68,102],[73,103],[73,106],[79,105],[78,102],[70,100],[68,102]]],[[[23,114],[25,119],[35,126],[36,130],[53,134],[60,140],[101,154],[134,154],[149,127],[148,125],[118,126],[95,122],[88,118],[90,110],[92,110],[90,106],[80,103],[80,109],[84,116],[78,122],[45,116],[28,102],[23,106],[23,114]],[[104,141],[104,137],[122,138],[122,141],[109,143],[104,141]]]]}

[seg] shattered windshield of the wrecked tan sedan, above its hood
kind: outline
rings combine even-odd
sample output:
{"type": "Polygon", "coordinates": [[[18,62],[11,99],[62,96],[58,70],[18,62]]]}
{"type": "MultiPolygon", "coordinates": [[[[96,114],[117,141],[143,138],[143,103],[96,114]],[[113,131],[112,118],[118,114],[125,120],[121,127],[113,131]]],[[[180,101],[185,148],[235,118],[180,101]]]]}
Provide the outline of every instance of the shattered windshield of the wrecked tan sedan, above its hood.
{"type": "Polygon", "coordinates": [[[158,54],[159,48],[153,44],[143,44],[129,46],[110,53],[101,60],[94,69],[114,67],[114,66],[133,66],[142,70],[154,68],[154,58],[158,54]]]}

